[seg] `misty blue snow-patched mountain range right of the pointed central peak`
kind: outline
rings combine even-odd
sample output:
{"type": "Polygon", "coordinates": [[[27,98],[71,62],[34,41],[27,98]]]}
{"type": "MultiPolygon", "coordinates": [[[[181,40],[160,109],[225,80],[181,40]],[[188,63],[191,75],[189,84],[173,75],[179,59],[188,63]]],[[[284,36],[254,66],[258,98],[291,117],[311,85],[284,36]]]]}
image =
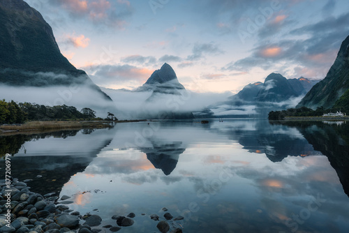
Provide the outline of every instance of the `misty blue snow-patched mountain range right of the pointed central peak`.
{"type": "Polygon", "coordinates": [[[286,79],[279,73],[272,73],[265,82],[248,84],[225,102],[210,105],[194,114],[198,118],[267,117],[272,110],[295,107],[297,98],[302,98],[317,82],[305,77],[286,79]]]}

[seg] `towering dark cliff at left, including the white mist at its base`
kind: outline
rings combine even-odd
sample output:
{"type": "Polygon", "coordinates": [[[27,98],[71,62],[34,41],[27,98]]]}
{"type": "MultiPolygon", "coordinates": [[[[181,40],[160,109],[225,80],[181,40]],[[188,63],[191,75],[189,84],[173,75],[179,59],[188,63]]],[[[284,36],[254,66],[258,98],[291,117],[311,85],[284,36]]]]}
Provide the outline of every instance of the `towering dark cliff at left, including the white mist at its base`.
{"type": "Polygon", "coordinates": [[[0,1],[0,84],[6,100],[90,107],[98,117],[117,112],[112,99],[61,54],[42,15],[22,0],[0,1]]]}

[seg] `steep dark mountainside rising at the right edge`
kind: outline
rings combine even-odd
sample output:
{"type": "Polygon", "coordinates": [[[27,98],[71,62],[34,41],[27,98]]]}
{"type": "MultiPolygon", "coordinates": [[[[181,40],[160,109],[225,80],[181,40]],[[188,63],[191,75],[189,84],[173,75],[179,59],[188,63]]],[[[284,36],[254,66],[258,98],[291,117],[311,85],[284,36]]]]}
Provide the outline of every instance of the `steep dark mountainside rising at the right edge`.
{"type": "Polygon", "coordinates": [[[297,107],[315,109],[323,106],[325,109],[334,107],[343,93],[349,89],[349,36],[341,44],[334,64],[329,69],[324,80],[306,93],[297,107]]]}

